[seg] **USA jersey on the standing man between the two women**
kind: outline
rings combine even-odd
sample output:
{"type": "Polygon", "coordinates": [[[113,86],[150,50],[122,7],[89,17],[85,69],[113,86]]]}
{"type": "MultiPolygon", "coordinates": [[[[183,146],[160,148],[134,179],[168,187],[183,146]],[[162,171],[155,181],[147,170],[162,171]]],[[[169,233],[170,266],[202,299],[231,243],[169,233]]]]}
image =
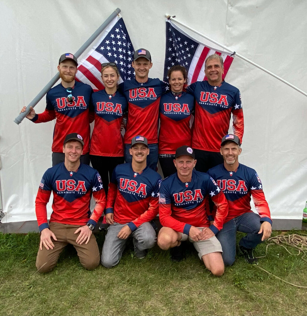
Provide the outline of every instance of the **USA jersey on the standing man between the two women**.
{"type": "Polygon", "coordinates": [[[149,144],[158,142],[158,117],[161,95],[169,88],[166,82],[149,78],[139,83],[135,78],[125,80],[118,87],[128,100],[128,119],[125,144],[136,135],[147,138],[149,144]]]}

